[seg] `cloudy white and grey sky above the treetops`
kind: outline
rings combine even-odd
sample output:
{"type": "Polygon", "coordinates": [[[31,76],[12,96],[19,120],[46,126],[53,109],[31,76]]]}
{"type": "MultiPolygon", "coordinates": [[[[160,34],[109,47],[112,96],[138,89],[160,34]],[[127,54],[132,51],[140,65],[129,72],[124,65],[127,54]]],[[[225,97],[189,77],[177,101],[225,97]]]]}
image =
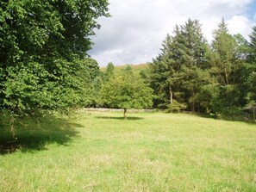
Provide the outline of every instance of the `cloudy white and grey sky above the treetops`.
{"type": "Polygon", "coordinates": [[[91,58],[100,66],[135,65],[151,62],[165,36],[189,18],[199,20],[209,42],[222,18],[230,34],[248,40],[256,25],[256,0],[109,0],[109,14],[98,19],[91,58]]]}

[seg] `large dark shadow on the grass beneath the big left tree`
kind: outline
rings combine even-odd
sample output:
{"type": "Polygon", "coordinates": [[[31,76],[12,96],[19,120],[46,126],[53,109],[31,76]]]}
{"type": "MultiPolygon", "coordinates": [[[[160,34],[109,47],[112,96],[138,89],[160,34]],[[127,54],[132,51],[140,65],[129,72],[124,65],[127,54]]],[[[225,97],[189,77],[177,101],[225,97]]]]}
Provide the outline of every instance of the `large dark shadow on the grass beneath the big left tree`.
{"type": "Polygon", "coordinates": [[[9,125],[1,125],[0,155],[16,152],[18,149],[21,152],[47,150],[47,144],[52,143],[67,146],[74,137],[78,137],[75,127],[82,126],[51,115],[40,123],[34,121],[16,123],[14,138],[9,125]]]}

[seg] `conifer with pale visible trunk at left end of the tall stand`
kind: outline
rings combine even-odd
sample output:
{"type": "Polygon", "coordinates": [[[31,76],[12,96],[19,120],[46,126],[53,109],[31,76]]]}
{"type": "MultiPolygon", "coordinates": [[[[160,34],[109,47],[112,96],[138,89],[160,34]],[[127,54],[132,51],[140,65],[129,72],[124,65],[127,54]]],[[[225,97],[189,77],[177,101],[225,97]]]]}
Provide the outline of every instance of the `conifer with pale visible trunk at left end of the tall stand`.
{"type": "Polygon", "coordinates": [[[161,53],[149,64],[150,82],[155,94],[154,106],[159,108],[172,105],[174,91],[175,98],[180,98],[178,93],[178,71],[181,68],[181,63],[178,61],[180,28],[176,26],[173,33],[174,36],[166,35],[161,53]]]}

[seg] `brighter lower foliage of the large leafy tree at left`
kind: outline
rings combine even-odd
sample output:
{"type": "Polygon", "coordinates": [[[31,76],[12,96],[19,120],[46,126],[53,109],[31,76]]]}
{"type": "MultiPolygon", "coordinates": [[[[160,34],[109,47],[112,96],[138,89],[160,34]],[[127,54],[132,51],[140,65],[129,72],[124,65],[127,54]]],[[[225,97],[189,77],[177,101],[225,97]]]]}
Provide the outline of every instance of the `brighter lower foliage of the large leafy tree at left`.
{"type": "Polygon", "coordinates": [[[90,103],[91,70],[88,66],[81,61],[71,63],[63,59],[55,60],[53,65],[52,74],[38,63],[9,71],[9,78],[3,84],[3,107],[29,114],[41,109],[65,111],[90,103]]]}

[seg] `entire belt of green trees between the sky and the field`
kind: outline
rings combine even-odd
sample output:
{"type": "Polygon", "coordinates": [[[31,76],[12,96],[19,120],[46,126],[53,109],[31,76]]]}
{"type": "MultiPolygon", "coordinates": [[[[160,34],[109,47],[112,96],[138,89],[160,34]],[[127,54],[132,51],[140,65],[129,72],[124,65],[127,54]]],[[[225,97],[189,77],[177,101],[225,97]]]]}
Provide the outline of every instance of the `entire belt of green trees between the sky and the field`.
{"type": "Polygon", "coordinates": [[[116,72],[113,63],[100,71],[88,55],[100,16],[109,16],[106,0],[1,2],[1,113],[90,106],[252,118],[256,27],[247,41],[229,34],[222,20],[208,42],[200,22],[189,19],[166,35],[159,56],[138,75],[130,66],[116,72]]]}

